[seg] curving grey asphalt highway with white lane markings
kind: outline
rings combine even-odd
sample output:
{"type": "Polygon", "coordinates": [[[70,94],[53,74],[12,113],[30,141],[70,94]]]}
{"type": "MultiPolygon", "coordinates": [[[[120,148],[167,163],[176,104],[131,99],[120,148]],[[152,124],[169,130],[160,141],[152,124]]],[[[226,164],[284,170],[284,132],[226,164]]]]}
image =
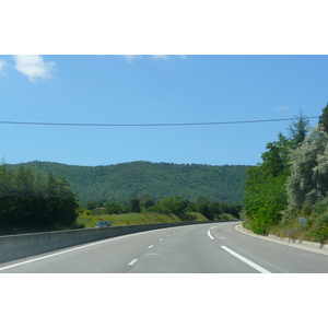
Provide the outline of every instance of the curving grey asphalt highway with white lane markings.
{"type": "Polygon", "coordinates": [[[312,273],[328,253],[254,238],[235,222],[161,229],[0,265],[0,273],[312,273]]]}

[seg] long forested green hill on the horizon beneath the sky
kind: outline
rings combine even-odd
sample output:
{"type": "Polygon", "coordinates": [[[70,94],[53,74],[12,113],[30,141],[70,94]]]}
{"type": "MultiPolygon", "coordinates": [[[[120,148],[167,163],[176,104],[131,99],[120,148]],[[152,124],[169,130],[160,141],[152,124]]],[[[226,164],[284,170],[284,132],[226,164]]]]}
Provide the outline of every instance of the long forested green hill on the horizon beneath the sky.
{"type": "Polygon", "coordinates": [[[80,201],[118,201],[149,194],[161,200],[179,195],[190,201],[199,196],[225,203],[242,203],[246,165],[199,165],[131,162],[107,166],[75,166],[50,162],[30,162],[42,175],[65,176],[80,201]]]}

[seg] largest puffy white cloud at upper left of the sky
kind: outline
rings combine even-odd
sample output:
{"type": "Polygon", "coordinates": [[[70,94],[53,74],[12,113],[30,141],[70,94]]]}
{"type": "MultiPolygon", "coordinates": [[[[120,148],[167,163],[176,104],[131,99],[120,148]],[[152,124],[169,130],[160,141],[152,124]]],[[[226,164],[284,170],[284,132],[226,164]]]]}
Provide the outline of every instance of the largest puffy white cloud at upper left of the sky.
{"type": "Polygon", "coordinates": [[[28,77],[31,82],[36,82],[37,79],[52,78],[51,71],[56,63],[54,61],[46,62],[38,55],[17,55],[13,56],[15,69],[22,74],[28,77]]]}

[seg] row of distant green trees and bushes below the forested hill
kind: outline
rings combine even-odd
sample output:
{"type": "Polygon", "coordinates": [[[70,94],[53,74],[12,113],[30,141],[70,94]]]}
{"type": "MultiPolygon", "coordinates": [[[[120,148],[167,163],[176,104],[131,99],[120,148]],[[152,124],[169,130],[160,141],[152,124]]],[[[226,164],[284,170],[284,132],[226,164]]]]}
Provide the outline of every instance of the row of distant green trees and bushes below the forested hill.
{"type": "Polygon", "coordinates": [[[92,212],[101,212],[106,214],[121,214],[121,213],[140,213],[140,212],[153,212],[162,214],[176,214],[186,215],[188,212],[199,212],[209,220],[214,220],[221,214],[232,214],[236,219],[239,219],[239,212],[242,206],[239,204],[226,204],[218,201],[211,201],[206,196],[200,196],[196,202],[189,201],[181,196],[168,196],[162,198],[160,201],[155,201],[155,197],[144,195],[141,198],[131,197],[128,204],[122,204],[117,201],[109,202],[87,202],[81,207],[80,213],[91,214],[92,212]]]}

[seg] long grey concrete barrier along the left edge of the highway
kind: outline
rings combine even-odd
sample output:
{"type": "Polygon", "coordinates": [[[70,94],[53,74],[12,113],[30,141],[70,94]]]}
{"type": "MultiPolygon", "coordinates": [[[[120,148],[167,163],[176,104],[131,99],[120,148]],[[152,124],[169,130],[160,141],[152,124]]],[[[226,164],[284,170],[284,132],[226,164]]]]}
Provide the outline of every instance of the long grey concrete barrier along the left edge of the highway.
{"type": "Polygon", "coordinates": [[[110,226],[104,227],[104,230],[79,229],[46,233],[1,236],[0,263],[120,235],[127,235],[171,226],[207,223],[213,224],[218,222],[226,221],[188,221],[162,224],[110,226]]]}

